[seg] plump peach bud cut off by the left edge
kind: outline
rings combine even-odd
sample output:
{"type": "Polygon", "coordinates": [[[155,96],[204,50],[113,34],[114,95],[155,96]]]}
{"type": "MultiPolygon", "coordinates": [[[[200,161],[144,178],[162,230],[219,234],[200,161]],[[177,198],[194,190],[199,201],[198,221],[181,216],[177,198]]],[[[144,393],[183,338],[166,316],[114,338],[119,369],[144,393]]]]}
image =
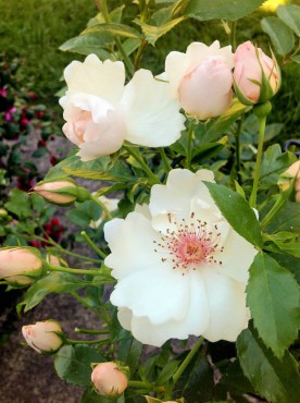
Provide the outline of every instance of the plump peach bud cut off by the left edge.
{"type": "Polygon", "coordinates": [[[0,251],[0,278],[10,283],[26,285],[41,272],[42,261],[37,249],[27,247],[0,251]]]}

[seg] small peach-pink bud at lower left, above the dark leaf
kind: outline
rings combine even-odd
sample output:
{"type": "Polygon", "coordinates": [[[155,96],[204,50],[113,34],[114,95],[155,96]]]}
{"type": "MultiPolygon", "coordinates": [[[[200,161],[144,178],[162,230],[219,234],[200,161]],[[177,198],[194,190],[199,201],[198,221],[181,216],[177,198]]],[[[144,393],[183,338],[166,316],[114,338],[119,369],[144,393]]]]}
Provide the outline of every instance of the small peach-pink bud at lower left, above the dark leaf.
{"type": "Polygon", "coordinates": [[[52,319],[38,321],[36,325],[23,326],[22,328],[26,343],[39,354],[54,353],[60,349],[63,341],[57,332],[62,332],[62,328],[58,321],[52,319]]]}

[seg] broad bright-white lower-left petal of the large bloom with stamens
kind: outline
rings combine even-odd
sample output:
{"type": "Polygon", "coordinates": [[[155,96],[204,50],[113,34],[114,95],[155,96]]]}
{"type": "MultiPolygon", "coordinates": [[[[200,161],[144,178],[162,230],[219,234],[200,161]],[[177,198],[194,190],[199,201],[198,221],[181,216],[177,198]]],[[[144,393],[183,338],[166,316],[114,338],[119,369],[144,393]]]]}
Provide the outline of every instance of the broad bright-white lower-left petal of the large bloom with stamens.
{"type": "Polygon", "coordinates": [[[152,267],[120,280],[111,303],[130,309],[135,317],[147,317],[153,325],[182,320],[187,314],[189,286],[189,276],[182,276],[179,270],[152,267]]]}

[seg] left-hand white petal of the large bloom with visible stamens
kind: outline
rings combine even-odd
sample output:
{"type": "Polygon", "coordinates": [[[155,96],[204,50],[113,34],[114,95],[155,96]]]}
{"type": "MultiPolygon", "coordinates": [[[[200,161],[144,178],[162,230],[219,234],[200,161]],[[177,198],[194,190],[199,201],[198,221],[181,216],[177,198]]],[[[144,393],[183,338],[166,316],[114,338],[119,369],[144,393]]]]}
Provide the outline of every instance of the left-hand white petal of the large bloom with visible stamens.
{"type": "Polygon", "coordinates": [[[104,236],[111,249],[105,265],[113,269],[112,276],[116,279],[162,265],[153,244],[160,236],[150,221],[138,212],[130,212],[126,220],[114,219],[105,223],[104,236]]]}

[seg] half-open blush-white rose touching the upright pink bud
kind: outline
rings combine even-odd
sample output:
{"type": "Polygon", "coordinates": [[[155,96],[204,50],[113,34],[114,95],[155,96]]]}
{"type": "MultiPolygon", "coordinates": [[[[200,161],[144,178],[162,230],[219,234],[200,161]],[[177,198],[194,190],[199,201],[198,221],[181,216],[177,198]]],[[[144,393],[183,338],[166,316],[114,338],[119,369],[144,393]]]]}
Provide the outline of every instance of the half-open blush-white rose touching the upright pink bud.
{"type": "Polygon", "coordinates": [[[232,47],[220,48],[192,42],[186,53],[172,51],[165,59],[161,78],[170,82],[172,94],[184,110],[200,120],[218,117],[232,103],[234,54],[232,47]]]}

